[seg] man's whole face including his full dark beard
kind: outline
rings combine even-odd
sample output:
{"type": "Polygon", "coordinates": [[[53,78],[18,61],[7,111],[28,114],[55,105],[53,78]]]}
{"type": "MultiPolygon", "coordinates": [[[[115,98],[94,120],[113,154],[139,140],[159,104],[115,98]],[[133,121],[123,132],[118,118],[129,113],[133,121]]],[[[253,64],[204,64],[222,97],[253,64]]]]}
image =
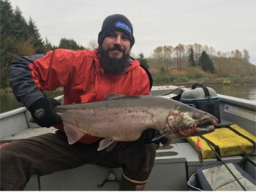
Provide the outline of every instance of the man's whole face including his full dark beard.
{"type": "Polygon", "coordinates": [[[109,74],[121,74],[129,65],[129,37],[119,31],[112,31],[99,45],[100,64],[109,74]]]}

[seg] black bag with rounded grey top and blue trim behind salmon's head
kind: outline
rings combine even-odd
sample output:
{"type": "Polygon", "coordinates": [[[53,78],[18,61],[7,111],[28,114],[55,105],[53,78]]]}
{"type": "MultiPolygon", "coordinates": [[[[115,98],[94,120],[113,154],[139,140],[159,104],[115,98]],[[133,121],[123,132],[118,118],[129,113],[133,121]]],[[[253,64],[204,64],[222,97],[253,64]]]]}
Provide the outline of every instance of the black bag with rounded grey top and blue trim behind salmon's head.
{"type": "Polygon", "coordinates": [[[180,101],[195,107],[198,110],[214,115],[219,120],[219,123],[221,122],[219,114],[219,97],[214,89],[196,83],[192,86],[192,89],[185,90],[181,94],[180,101]]]}

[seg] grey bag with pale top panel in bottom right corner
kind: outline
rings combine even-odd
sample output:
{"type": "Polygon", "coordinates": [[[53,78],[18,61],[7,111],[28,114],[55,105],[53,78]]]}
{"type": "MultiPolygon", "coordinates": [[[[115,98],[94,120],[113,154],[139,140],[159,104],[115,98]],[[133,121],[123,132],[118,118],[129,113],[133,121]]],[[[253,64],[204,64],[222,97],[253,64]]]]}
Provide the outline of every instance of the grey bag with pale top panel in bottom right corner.
{"type": "Polygon", "coordinates": [[[255,191],[256,181],[237,164],[200,166],[187,186],[193,191],[255,191]]]}

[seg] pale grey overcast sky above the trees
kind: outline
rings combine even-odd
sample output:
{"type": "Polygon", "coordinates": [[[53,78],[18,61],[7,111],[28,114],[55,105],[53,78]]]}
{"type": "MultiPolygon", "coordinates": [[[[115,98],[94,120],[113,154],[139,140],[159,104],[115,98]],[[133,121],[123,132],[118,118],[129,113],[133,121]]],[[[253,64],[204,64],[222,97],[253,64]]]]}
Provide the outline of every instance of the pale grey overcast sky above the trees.
{"type": "Polygon", "coordinates": [[[222,53],[244,49],[256,64],[255,0],[10,0],[31,17],[41,37],[59,45],[62,37],[87,46],[102,21],[114,13],[134,28],[132,53],[151,55],[163,45],[199,43],[222,53]]]}

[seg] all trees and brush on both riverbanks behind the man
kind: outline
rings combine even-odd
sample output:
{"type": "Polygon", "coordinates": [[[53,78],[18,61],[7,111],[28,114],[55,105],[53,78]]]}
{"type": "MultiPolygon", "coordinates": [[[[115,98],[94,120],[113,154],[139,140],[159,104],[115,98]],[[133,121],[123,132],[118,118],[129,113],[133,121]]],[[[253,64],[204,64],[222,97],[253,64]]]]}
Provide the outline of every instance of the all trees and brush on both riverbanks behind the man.
{"type": "MultiPolygon", "coordinates": [[[[19,7],[12,7],[8,0],[0,0],[0,41],[1,41],[1,88],[9,85],[8,69],[18,56],[46,53],[56,48],[71,50],[97,47],[92,39],[85,47],[73,39],[61,37],[59,45],[52,45],[47,37],[43,39],[35,21],[27,21],[19,7]]],[[[249,63],[247,50],[231,50],[221,53],[214,47],[200,45],[159,45],[148,58],[143,53],[131,53],[141,64],[148,67],[156,82],[187,82],[202,78],[255,77],[256,66],[249,63]]]]}

